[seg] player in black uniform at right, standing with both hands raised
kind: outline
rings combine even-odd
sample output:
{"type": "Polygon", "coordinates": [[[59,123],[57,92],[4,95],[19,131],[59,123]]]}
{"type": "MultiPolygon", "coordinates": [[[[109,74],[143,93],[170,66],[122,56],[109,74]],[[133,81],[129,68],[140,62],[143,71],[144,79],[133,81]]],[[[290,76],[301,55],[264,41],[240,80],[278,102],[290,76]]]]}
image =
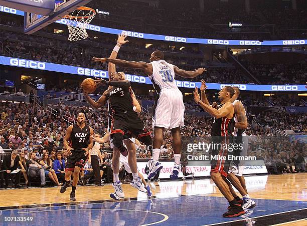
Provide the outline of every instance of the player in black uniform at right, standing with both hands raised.
{"type": "MultiPolygon", "coordinates": [[[[212,159],[211,160],[211,171],[210,175],[214,183],[217,185],[221,193],[228,200],[230,204],[229,211],[223,214],[224,217],[235,217],[245,213],[241,204],[233,197],[228,184],[225,182],[225,178],[229,179],[230,182],[242,193],[245,193],[242,188],[240,181],[232,173],[228,173],[229,169],[229,159],[228,159],[228,147],[227,148],[216,148],[220,147],[216,144],[229,144],[229,137],[232,135],[234,129],[234,107],[230,102],[230,99],[234,95],[234,89],[230,86],[225,86],[219,92],[219,100],[221,104],[217,108],[213,108],[209,105],[207,98],[205,97],[206,84],[202,80],[201,94],[202,99],[198,94],[198,88],[194,91],[194,100],[200,105],[206,112],[214,117],[211,136],[213,145],[213,155],[218,155],[219,157],[226,157],[226,160],[212,159]],[[203,102],[204,101],[204,102],[203,102]]],[[[245,193],[246,194],[246,193],[245,193]]],[[[237,196],[237,195],[236,195],[237,196]]],[[[241,200],[241,199],[240,199],[241,200]]]]}

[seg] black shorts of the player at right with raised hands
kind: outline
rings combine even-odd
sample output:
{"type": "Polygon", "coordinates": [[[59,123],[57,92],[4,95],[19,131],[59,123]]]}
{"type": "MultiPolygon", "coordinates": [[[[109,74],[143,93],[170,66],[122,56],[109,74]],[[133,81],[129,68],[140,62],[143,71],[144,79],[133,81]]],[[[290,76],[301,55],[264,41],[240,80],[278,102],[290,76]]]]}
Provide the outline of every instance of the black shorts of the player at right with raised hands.
{"type": "Polygon", "coordinates": [[[210,150],[211,172],[220,172],[225,177],[228,175],[230,166],[229,151],[227,149],[230,139],[229,137],[212,136],[213,146],[210,150]]]}

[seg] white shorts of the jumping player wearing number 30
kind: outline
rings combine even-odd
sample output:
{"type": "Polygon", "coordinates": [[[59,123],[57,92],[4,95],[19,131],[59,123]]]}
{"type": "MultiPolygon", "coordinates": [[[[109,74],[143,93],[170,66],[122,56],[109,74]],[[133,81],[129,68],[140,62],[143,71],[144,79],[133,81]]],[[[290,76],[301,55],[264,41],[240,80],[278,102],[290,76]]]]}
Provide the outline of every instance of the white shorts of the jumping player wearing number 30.
{"type": "Polygon", "coordinates": [[[152,112],[152,128],[173,129],[184,125],[185,105],[178,89],[163,89],[152,112]]]}

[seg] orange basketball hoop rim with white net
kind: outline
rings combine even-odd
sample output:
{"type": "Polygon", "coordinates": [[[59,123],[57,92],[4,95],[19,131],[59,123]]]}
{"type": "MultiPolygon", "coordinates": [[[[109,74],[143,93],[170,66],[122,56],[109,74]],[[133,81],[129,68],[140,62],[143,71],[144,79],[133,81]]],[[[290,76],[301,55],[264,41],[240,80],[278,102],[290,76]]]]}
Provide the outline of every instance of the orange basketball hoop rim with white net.
{"type": "Polygon", "coordinates": [[[80,7],[77,10],[67,14],[64,19],[66,20],[69,41],[78,41],[86,39],[88,34],[86,33],[86,27],[96,16],[95,10],[88,7],[80,7]]]}

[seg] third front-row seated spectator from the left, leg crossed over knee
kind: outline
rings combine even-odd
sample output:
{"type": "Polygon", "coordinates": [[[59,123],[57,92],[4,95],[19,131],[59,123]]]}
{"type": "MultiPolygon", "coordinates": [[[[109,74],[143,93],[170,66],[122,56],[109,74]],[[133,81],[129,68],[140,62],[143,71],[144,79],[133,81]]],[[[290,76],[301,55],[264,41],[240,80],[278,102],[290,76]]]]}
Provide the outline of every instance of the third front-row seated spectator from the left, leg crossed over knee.
{"type": "Polygon", "coordinates": [[[45,170],[50,169],[47,165],[42,166],[38,163],[38,158],[35,152],[30,152],[29,159],[27,160],[28,176],[40,176],[41,186],[46,185],[45,170]]]}

